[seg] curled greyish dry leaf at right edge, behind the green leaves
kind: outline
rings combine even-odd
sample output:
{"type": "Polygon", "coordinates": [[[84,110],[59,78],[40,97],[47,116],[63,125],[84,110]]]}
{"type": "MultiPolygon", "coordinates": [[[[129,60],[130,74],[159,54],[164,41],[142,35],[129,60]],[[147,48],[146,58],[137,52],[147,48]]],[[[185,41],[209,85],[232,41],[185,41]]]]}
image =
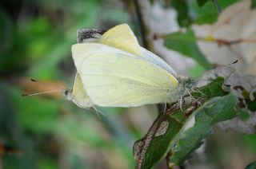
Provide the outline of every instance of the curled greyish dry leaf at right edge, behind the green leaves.
{"type": "MultiPolygon", "coordinates": [[[[224,85],[222,88],[227,92],[232,92],[239,100],[239,108],[246,112],[246,119],[242,120],[239,116],[234,119],[224,121],[218,124],[219,127],[227,130],[234,129],[238,132],[253,134],[256,126],[256,76],[241,75],[230,66],[221,66],[217,69],[210,70],[202,77],[203,85],[206,81],[210,81],[216,77],[224,77],[224,85]]],[[[241,112],[240,111],[240,112],[241,112]]]]}

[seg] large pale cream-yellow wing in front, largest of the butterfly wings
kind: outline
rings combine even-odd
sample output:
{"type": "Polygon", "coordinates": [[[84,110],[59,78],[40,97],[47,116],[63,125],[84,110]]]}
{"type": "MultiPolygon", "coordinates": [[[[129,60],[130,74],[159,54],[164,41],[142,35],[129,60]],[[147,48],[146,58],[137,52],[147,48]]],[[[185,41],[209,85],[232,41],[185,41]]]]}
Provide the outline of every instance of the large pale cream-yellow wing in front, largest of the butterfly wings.
{"type": "Polygon", "coordinates": [[[158,65],[107,45],[72,46],[74,64],[94,104],[133,107],[172,100],[177,79],[158,65]]]}

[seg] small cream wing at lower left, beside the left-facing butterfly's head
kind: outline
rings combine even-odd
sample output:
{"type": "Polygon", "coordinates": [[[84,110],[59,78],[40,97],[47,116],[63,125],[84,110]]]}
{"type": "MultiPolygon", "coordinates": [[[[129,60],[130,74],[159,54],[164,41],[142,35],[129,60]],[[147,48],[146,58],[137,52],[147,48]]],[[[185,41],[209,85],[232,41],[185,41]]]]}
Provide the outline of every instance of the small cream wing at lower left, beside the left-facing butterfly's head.
{"type": "Polygon", "coordinates": [[[74,79],[74,86],[71,93],[71,100],[81,108],[91,108],[93,103],[82,85],[82,80],[77,73],[74,79]]]}

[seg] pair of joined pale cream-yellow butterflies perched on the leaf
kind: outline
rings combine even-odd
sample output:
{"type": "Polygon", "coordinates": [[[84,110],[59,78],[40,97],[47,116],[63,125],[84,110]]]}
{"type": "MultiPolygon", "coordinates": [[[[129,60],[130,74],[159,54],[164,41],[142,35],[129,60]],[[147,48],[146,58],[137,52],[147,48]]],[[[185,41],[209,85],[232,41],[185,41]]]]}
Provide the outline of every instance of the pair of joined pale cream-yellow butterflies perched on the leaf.
{"type": "Polygon", "coordinates": [[[82,108],[134,107],[178,100],[188,77],[142,48],[127,24],[115,26],[94,41],[72,46],[78,71],[64,95],[82,108]]]}

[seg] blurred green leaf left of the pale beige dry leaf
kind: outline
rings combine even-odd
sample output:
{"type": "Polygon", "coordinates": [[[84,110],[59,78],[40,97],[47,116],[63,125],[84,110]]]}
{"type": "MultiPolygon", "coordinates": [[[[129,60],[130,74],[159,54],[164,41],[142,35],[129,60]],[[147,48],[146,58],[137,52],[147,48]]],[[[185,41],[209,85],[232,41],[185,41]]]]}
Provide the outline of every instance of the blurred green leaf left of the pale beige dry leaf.
{"type": "Polygon", "coordinates": [[[188,29],[186,33],[171,33],[166,35],[164,40],[165,45],[169,49],[194,58],[194,60],[198,61],[198,63],[206,69],[211,68],[209,61],[206,60],[206,57],[204,57],[201,51],[198,49],[198,45],[196,44],[197,38],[194,36],[192,29],[188,29]]]}

